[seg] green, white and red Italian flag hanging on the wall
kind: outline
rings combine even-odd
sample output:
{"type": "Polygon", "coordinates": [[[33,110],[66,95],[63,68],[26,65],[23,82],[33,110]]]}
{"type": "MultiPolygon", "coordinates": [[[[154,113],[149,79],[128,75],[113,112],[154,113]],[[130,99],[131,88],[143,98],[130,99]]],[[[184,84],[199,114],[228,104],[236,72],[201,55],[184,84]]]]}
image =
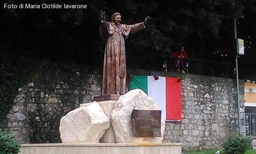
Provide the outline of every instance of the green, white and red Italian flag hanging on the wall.
{"type": "Polygon", "coordinates": [[[152,97],[166,121],[181,121],[181,84],[178,78],[133,75],[130,90],[141,89],[152,97]]]}

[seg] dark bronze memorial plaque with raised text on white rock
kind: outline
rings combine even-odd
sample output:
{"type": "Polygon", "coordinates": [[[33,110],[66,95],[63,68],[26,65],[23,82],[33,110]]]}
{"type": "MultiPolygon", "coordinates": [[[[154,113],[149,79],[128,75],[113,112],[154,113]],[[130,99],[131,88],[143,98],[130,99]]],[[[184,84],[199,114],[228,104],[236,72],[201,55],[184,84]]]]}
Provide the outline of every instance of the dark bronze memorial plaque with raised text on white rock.
{"type": "Polygon", "coordinates": [[[133,110],[133,136],[161,137],[161,113],[161,110],[133,110]]]}

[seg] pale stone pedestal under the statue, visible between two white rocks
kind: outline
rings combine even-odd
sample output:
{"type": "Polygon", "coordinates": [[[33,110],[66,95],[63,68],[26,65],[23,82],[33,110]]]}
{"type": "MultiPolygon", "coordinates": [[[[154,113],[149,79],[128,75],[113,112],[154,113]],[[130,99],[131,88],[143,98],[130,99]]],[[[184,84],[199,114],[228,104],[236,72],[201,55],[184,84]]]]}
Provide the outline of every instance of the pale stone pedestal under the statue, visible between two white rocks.
{"type": "MultiPolygon", "coordinates": [[[[98,103],[104,110],[104,113],[110,119],[110,114],[115,107],[116,101],[100,101],[98,103]]],[[[100,139],[100,143],[116,143],[116,136],[112,126],[112,122],[110,122],[109,128],[107,129],[107,131],[105,131],[105,134],[100,139]]]]}

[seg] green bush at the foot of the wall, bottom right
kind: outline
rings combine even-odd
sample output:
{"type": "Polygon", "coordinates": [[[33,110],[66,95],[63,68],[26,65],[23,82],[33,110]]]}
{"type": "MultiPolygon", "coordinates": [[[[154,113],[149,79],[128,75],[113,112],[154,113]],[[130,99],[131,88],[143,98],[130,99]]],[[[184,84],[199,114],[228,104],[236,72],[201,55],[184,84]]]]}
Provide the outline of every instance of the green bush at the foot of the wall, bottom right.
{"type": "Polygon", "coordinates": [[[230,136],[223,141],[225,154],[244,154],[251,147],[251,139],[244,136],[230,136]]]}

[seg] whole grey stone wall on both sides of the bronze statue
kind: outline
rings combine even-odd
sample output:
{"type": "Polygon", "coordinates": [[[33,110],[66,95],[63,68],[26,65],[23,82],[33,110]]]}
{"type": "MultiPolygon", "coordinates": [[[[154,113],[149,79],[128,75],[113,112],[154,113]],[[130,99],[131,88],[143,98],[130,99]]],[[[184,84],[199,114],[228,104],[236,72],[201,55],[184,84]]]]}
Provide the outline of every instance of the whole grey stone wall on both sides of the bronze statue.
{"type": "MultiPolygon", "coordinates": [[[[183,149],[212,149],[231,133],[237,133],[236,84],[234,79],[160,72],[161,76],[182,78],[182,122],[166,123],[164,143],[183,143],[183,149]]],[[[50,63],[37,79],[19,89],[12,111],[0,129],[17,134],[28,143],[27,112],[37,104],[88,103],[100,95],[102,68],[50,63]],[[36,103],[35,103],[36,102],[36,103]]],[[[149,75],[147,70],[128,69],[127,74],[149,75]]],[[[241,132],[245,132],[244,83],[240,83],[241,132]]]]}

